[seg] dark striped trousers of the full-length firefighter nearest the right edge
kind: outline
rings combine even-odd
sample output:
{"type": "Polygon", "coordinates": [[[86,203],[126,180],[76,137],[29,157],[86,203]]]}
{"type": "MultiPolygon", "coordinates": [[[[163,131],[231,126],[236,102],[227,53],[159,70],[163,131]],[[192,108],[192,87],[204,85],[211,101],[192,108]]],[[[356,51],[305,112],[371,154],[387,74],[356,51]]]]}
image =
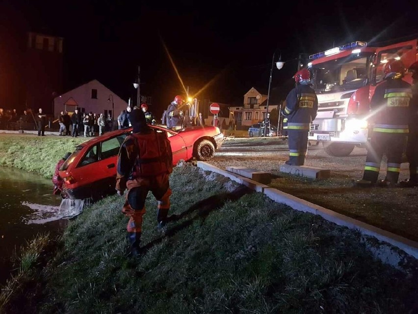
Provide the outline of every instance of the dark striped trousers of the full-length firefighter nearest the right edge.
{"type": "Polygon", "coordinates": [[[385,133],[374,131],[370,146],[367,150],[365,171],[363,179],[376,183],[379,176],[380,164],[385,154],[388,159],[385,180],[396,184],[402,162],[402,153],[405,148],[406,134],[385,133]]]}

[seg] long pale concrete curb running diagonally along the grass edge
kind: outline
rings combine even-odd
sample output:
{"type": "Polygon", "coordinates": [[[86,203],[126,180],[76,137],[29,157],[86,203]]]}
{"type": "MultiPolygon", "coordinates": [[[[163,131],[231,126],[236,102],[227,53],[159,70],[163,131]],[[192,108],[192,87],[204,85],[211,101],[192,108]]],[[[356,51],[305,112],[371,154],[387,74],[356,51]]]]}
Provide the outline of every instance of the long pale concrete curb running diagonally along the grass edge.
{"type": "MultiPolygon", "coordinates": [[[[400,250],[404,251],[408,255],[415,257],[418,259],[418,242],[409,240],[407,238],[404,238],[402,236],[396,235],[392,232],[368,225],[364,222],[361,222],[359,220],[344,216],[342,214],[339,214],[335,211],[332,211],[330,209],[324,208],[322,206],[313,204],[309,201],[299,199],[293,195],[287,194],[285,192],[279,191],[274,188],[270,188],[267,185],[261,184],[259,182],[253,181],[251,179],[245,178],[243,176],[240,176],[238,174],[224,171],[222,169],[219,169],[215,166],[212,166],[206,162],[197,162],[197,167],[213,171],[219,174],[222,174],[226,177],[231,178],[235,182],[239,184],[243,184],[257,192],[261,192],[265,194],[268,198],[271,200],[274,200],[278,203],[286,204],[290,207],[292,207],[295,210],[303,211],[312,213],[314,215],[319,215],[325,220],[328,220],[332,223],[335,223],[340,226],[345,226],[350,229],[355,229],[360,231],[364,235],[373,236],[376,239],[380,241],[387,242],[391,244],[394,247],[399,248],[400,250]]],[[[392,253],[393,254],[393,253],[392,253]]],[[[380,259],[382,259],[385,262],[389,262],[390,264],[393,264],[393,262],[390,262],[388,260],[388,256],[391,255],[391,253],[386,253],[386,257],[378,256],[380,259]]],[[[396,258],[395,258],[396,259],[396,258]]],[[[398,257],[396,260],[400,260],[402,257],[398,257]]]]}

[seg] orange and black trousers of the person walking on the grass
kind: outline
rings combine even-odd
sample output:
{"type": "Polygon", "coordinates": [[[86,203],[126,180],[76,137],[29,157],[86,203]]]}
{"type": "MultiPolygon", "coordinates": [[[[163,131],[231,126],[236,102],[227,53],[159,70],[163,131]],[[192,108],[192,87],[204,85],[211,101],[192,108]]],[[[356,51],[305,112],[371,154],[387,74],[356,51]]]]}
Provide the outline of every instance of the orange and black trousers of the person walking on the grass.
{"type": "Polygon", "coordinates": [[[142,216],[146,213],[145,200],[151,191],[157,199],[157,222],[167,218],[171,189],[168,174],[150,178],[136,178],[127,182],[128,193],[122,212],[129,217],[128,232],[141,233],[142,216]]]}

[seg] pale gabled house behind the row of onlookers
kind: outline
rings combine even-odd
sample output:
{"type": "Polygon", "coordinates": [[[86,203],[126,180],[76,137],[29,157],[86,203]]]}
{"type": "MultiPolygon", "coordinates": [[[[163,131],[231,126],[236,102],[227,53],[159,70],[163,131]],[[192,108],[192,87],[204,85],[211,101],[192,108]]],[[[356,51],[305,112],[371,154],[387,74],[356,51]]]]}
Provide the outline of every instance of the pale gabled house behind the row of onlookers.
{"type": "Polygon", "coordinates": [[[115,119],[122,110],[126,110],[128,103],[104,86],[98,80],[90,81],[73,90],[55,97],[53,100],[53,114],[59,116],[61,111],[68,111],[71,115],[76,108],[78,111],[96,114],[110,114],[115,119]]]}

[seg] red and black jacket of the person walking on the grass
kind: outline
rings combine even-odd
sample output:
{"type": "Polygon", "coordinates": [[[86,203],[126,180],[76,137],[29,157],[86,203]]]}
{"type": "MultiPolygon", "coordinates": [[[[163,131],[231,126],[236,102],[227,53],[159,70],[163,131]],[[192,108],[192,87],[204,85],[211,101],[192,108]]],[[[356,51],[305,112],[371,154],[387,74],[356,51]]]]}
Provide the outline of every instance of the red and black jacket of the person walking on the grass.
{"type": "Polygon", "coordinates": [[[119,150],[116,190],[124,191],[128,180],[173,172],[173,153],[166,132],[149,129],[133,133],[119,150]]]}

